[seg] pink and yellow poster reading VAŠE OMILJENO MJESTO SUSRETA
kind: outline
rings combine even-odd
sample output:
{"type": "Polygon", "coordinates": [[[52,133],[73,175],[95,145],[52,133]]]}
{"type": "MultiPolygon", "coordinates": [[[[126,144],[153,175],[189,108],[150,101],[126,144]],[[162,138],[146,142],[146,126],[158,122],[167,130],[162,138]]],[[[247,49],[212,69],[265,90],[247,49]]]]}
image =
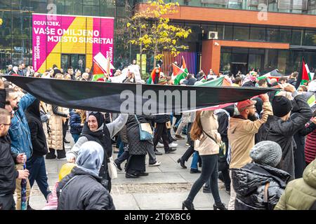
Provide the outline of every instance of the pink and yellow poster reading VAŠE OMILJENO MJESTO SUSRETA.
{"type": "Polygon", "coordinates": [[[60,68],[65,55],[84,55],[90,68],[99,52],[113,63],[114,18],[34,13],[32,34],[34,71],[60,68]]]}

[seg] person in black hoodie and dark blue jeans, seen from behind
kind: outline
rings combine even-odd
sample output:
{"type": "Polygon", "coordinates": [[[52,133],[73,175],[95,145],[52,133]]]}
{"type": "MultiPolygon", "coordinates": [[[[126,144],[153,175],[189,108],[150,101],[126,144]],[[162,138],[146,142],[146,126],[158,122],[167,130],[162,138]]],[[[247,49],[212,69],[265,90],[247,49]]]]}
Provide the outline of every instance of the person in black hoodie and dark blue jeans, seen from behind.
{"type": "Polygon", "coordinates": [[[48,149],[43,124],[41,123],[38,99],[27,107],[25,116],[29,125],[33,146],[32,157],[27,160],[27,169],[29,169],[29,184],[32,188],[34,181],[37,181],[37,185],[39,186],[41,193],[47,200],[47,196],[51,193],[51,190],[48,188],[44,155],[48,153],[48,149]]]}

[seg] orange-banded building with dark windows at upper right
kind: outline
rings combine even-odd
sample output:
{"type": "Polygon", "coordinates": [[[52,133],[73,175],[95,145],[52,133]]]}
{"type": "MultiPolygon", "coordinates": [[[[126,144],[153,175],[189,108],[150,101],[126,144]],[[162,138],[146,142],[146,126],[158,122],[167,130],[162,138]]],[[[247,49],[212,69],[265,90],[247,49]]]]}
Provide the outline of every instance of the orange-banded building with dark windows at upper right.
{"type": "MultiPolygon", "coordinates": [[[[204,72],[296,71],[302,56],[316,66],[316,1],[182,0],[177,25],[190,27],[186,40],[204,72]]],[[[142,10],[145,3],[138,6],[142,10]]]]}

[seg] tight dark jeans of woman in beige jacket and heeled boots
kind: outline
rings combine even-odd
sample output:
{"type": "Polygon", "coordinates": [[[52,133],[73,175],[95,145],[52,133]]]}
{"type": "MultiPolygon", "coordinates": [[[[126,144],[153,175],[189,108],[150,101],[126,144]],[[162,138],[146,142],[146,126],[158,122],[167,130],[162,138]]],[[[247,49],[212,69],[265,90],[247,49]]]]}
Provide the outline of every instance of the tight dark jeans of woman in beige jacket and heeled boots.
{"type": "Polygon", "coordinates": [[[217,155],[201,155],[202,159],[202,173],[199,179],[193,184],[189,196],[187,196],[187,202],[193,202],[195,196],[202,188],[206,181],[211,181],[211,192],[215,203],[220,203],[220,196],[218,193],[218,165],[217,155]]]}

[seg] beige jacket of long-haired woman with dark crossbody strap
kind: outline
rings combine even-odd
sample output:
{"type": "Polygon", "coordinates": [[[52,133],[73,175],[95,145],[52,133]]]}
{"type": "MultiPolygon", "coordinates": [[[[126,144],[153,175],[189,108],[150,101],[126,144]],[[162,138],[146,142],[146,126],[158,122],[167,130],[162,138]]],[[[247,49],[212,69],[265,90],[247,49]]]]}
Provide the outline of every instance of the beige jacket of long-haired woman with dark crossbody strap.
{"type": "MultiPolygon", "coordinates": [[[[220,134],[217,132],[218,121],[214,111],[202,111],[200,119],[204,132],[213,137],[213,139],[216,139],[216,141],[219,143],[220,134]]],[[[216,144],[215,141],[204,134],[204,132],[202,132],[200,139],[195,141],[195,151],[198,151],[199,155],[218,154],[218,144],[216,144]]]]}

